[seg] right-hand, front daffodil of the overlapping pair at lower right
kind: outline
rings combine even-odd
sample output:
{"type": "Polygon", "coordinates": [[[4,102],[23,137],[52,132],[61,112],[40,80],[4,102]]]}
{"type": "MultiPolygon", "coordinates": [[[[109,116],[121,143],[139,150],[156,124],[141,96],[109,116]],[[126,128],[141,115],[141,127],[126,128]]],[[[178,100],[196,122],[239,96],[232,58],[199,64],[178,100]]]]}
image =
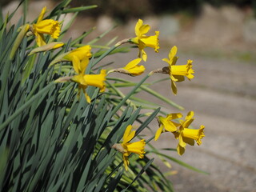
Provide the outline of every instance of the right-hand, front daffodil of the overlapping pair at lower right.
{"type": "Polygon", "coordinates": [[[194,141],[196,141],[198,146],[200,146],[202,143],[201,139],[205,137],[205,134],[203,132],[205,126],[200,126],[200,129],[198,130],[192,130],[188,128],[190,124],[194,121],[193,116],[194,112],[190,111],[187,114],[185,121],[180,121],[181,126],[179,126],[179,129],[173,132],[175,138],[179,140],[177,146],[177,151],[179,155],[184,154],[186,144],[194,146],[194,141]]]}

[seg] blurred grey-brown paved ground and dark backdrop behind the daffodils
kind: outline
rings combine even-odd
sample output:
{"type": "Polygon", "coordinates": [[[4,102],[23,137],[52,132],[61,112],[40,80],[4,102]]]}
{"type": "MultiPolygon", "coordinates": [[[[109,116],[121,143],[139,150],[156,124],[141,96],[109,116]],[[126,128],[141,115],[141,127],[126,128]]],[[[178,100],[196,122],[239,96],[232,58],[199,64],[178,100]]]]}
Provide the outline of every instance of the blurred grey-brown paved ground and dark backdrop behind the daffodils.
{"type": "MultiPolygon", "coordinates": [[[[48,10],[58,1],[30,1],[31,21],[38,17],[42,6],[48,10]]],[[[14,10],[15,1],[1,0],[3,15],[14,10]]],[[[178,95],[170,91],[170,82],[151,86],[152,89],[183,106],[177,110],[152,98],[152,102],[165,105],[168,113],[186,115],[194,110],[194,127],[206,126],[206,137],[201,146],[187,146],[179,157],[174,151],[166,153],[183,162],[204,170],[200,174],[170,162],[171,168],[161,161],[156,163],[164,171],[170,171],[170,180],[176,191],[256,191],[256,2],[253,0],[84,0],[72,1],[72,6],[98,5],[84,11],[68,32],[67,38],[76,38],[85,30],[96,29],[85,39],[90,41],[112,26],[118,25],[102,39],[102,45],[111,38],[134,37],[138,18],[150,24],[149,35],[160,30],[160,50],[154,53],[146,49],[146,71],[165,66],[170,48],[178,46],[178,65],[187,59],[194,61],[194,79],[177,83],[178,95]]],[[[22,15],[18,10],[17,17],[22,15]]],[[[64,18],[68,21],[71,15],[64,18]]],[[[16,21],[15,21],[16,19],[16,21]]],[[[117,40],[117,41],[118,41],[117,40]]],[[[114,67],[125,66],[137,57],[138,50],[130,54],[114,54],[102,60],[102,65],[114,62],[114,67]]],[[[166,78],[155,75],[151,80],[166,78]]],[[[130,78],[136,82],[139,78],[130,78]]],[[[150,97],[142,94],[142,97],[150,97]]],[[[158,129],[152,122],[151,128],[158,129]]],[[[177,141],[171,134],[162,134],[159,148],[175,148],[177,141]]]]}

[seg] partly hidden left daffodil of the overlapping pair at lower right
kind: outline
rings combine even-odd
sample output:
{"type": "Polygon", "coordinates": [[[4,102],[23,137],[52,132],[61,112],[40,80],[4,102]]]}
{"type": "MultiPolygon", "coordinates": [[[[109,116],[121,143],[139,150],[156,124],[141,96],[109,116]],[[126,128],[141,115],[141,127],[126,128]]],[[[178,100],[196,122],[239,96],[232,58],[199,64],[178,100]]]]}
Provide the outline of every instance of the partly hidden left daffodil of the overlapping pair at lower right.
{"type": "Polygon", "coordinates": [[[182,118],[182,114],[167,114],[166,118],[162,116],[158,116],[158,123],[159,123],[159,128],[155,133],[154,140],[157,141],[160,134],[163,132],[169,131],[169,132],[174,132],[177,130],[178,124],[177,122],[173,122],[171,120],[175,118],[182,118]]]}

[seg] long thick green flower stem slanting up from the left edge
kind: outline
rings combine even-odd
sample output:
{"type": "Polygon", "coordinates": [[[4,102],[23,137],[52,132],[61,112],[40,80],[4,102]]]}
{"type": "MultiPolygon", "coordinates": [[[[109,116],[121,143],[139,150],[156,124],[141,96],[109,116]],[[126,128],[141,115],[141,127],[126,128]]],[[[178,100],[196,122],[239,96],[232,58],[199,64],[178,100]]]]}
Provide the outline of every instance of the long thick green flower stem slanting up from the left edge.
{"type": "Polygon", "coordinates": [[[14,120],[14,118],[16,118],[18,116],[18,114],[21,114],[22,111],[24,111],[26,109],[26,107],[30,106],[36,99],[38,99],[38,97],[42,96],[42,94],[46,93],[47,90],[49,90],[51,88],[51,86],[54,86],[55,83],[51,82],[49,85],[47,85],[46,87],[44,87],[42,90],[40,90],[38,92],[38,94],[35,94],[34,97],[30,98],[29,101],[27,101],[25,104],[23,104],[23,106],[21,106],[18,110],[16,110],[14,112],[14,114],[10,115],[9,118],[6,119],[5,122],[2,123],[2,125],[0,125],[0,132],[6,127],[8,126],[8,124],[14,120]]]}

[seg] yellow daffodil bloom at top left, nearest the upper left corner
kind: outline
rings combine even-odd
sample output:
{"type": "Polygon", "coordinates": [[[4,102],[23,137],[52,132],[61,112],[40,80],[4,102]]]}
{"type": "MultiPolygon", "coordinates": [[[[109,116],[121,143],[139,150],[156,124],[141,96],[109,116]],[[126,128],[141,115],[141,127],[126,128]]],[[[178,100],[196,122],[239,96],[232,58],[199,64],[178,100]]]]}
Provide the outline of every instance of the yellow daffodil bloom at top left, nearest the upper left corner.
{"type": "Polygon", "coordinates": [[[58,38],[61,32],[61,26],[58,21],[53,19],[42,20],[46,13],[46,6],[42,8],[41,14],[39,14],[38,22],[33,24],[32,31],[36,37],[38,46],[46,45],[43,34],[50,34],[52,38],[58,38]]]}

